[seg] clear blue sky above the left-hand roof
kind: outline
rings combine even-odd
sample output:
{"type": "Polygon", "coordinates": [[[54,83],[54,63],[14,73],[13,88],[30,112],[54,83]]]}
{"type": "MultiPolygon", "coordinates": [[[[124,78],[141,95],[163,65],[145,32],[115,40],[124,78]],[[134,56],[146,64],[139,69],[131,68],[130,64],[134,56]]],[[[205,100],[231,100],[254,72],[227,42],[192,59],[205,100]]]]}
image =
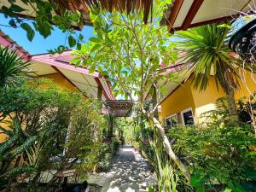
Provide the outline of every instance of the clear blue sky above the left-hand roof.
{"type": "MultiPolygon", "coordinates": [[[[61,30],[55,28],[55,31],[48,38],[43,38],[38,32],[36,32],[35,38],[30,42],[26,38],[26,32],[19,28],[8,27],[9,20],[4,18],[3,14],[0,14],[0,29],[14,39],[15,42],[20,44],[31,55],[42,54],[48,52],[48,49],[55,49],[61,44],[65,44],[66,34],[61,30]],[[4,26],[6,25],[6,26],[4,26]]],[[[88,42],[88,39],[93,36],[93,28],[91,26],[84,26],[82,34],[84,35],[84,41],[88,42]]]]}

